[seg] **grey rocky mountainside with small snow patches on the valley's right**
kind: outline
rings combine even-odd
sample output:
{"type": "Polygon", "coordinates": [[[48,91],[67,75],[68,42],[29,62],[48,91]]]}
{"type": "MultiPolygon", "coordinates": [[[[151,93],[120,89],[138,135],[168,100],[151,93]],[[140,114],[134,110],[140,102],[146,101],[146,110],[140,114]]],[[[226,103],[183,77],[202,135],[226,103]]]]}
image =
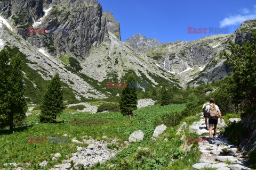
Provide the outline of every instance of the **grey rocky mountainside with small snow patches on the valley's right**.
{"type": "Polygon", "coordinates": [[[237,45],[241,45],[242,40],[252,42],[252,31],[255,29],[256,20],[248,20],[234,33],[166,43],[144,53],[154,58],[162,69],[175,74],[181,80],[182,87],[199,86],[222,80],[232,72],[222,59],[223,52],[228,52],[228,41],[237,45]]]}

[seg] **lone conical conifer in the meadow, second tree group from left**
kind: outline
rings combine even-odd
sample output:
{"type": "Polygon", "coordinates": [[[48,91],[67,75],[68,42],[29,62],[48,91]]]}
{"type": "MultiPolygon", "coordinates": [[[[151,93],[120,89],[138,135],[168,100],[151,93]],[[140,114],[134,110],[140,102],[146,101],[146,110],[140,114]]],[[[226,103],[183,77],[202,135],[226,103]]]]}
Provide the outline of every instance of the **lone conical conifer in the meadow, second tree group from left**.
{"type": "Polygon", "coordinates": [[[48,84],[40,107],[40,122],[54,122],[65,108],[59,73],[55,74],[48,84]]]}

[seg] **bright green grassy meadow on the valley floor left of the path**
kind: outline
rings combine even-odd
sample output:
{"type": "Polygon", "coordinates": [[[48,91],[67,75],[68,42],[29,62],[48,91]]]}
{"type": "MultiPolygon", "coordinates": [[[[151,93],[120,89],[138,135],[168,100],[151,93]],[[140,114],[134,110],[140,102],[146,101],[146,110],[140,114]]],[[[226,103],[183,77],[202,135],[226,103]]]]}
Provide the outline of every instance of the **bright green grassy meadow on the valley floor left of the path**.
{"type": "MultiPolygon", "coordinates": [[[[35,107],[35,105],[29,105],[29,107],[35,107]]],[[[71,153],[76,152],[76,146],[86,147],[86,144],[71,142],[71,139],[75,137],[77,140],[83,141],[84,135],[91,135],[93,139],[102,140],[102,136],[107,135],[109,139],[118,138],[117,148],[121,149],[124,148],[124,141],[128,140],[131,133],[141,130],[144,133],[143,141],[132,143],[118,152],[114,159],[110,159],[102,165],[95,165],[92,169],[108,169],[109,164],[116,164],[117,169],[141,169],[140,167],[142,169],[166,169],[173,159],[173,152],[184,142],[180,140],[181,135],[174,135],[178,126],[166,129],[167,134],[164,138],[169,139],[168,141],[164,141],[164,138],[161,137],[156,141],[150,141],[150,137],[153,135],[155,126],[158,125],[156,122],[161,120],[163,114],[179,112],[185,107],[186,104],[153,105],[136,110],[135,117],[123,116],[118,112],[90,114],[74,113],[74,110],[65,109],[62,115],[57,117],[59,123],[39,123],[40,111],[31,111],[32,114],[28,115],[25,120],[25,123],[30,124],[29,126],[15,128],[13,133],[9,130],[1,131],[0,168],[4,168],[4,163],[15,162],[23,165],[30,163],[31,165],[27,169],[49,169],[54,165],[61,164],[63,159],[69,159],[71,153]],[[47,143],[27,143],[28,137],[61,138],[63,134],[70,135],[68,143],[49,143],[49,139],[47,139],[47,143]],[[137,150],[139,146],[150,149],[144,153],[144,151],[137,150]],[[52,161],[51,158],[57,152],[61,154],[61,157],[52,161]],[[48,164],[45,167],[40,167],[39,163],[43,160],[47,160],[48,164]]],[[[187,123],[192,123],[195,119],[198,117],[184,118],[187,123]]],[[[186,131],[186,133],[188,132],[186,131]]],[[[199,152],[196,152],[196,147],[194,150],[195,152],[191,152],[182,161],[173,163],[173,169],[178,165],[189,167],[188,163],[196,162],[199,152]]],[[[9,169],[11,168],[9,167],[9,169]]]]}

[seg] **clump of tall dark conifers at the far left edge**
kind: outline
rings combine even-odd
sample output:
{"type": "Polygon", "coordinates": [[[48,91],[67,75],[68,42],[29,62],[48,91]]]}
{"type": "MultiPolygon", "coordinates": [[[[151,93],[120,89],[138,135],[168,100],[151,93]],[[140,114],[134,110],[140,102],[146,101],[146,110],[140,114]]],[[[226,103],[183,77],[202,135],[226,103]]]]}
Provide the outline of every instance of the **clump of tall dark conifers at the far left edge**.
{"type": "Polygon", "coordinates": [[[0,128],[21,125],[25,119],[27,104],[23,96],[21,59],[17,54],[10,57],[7,49],[0,52],[0,128]]]}

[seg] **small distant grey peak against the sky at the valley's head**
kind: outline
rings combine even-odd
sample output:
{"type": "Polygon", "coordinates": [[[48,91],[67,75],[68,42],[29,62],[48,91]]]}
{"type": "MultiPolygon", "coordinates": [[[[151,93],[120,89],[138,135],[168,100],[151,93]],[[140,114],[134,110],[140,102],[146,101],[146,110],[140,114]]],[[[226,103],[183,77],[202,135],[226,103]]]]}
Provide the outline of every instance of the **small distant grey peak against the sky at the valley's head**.
{"type": "Polygon", "coordinates": [[[141,36],[140,33],[137,33],[137,35],[134,35],[131,38],[126,39],[124,43],[135,50],[158,47],[164,44],[155,38],[146,38],[145,36],[141,36]]]}

